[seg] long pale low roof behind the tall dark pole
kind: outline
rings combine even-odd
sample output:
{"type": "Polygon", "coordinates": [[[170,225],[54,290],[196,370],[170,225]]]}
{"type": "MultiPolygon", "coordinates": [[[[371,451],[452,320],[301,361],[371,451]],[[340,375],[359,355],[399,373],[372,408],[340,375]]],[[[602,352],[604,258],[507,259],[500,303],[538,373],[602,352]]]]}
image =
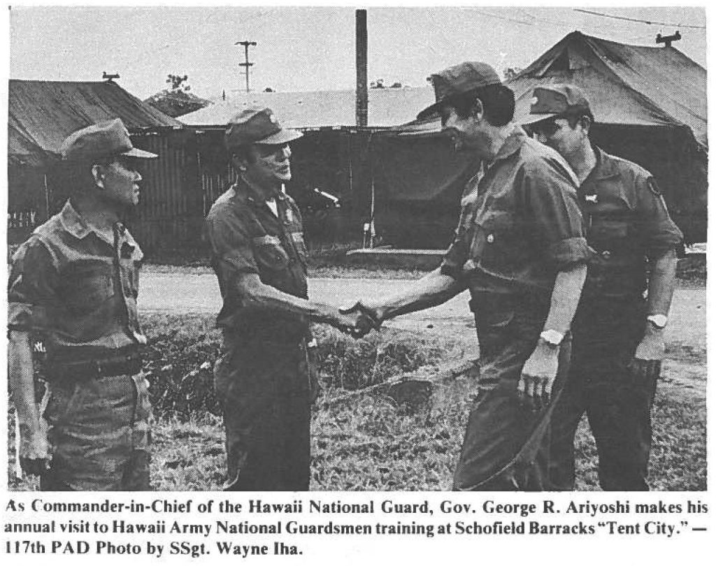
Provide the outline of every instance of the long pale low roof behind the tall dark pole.
{"type": "MultiPolygon", "coordinates": [[[[435,101],[432,88],[368,90],[368,125],[387,127],[405,124],[435,101]]],[[[355,92],[319,90],[311,92],[249,92],[219,99],[211,107],[185,114],[180,119],[192,126],[223,126],[251,106],[269,107],[281,125],[293,128],[317,128],[355,125],[355,92]]]]}

